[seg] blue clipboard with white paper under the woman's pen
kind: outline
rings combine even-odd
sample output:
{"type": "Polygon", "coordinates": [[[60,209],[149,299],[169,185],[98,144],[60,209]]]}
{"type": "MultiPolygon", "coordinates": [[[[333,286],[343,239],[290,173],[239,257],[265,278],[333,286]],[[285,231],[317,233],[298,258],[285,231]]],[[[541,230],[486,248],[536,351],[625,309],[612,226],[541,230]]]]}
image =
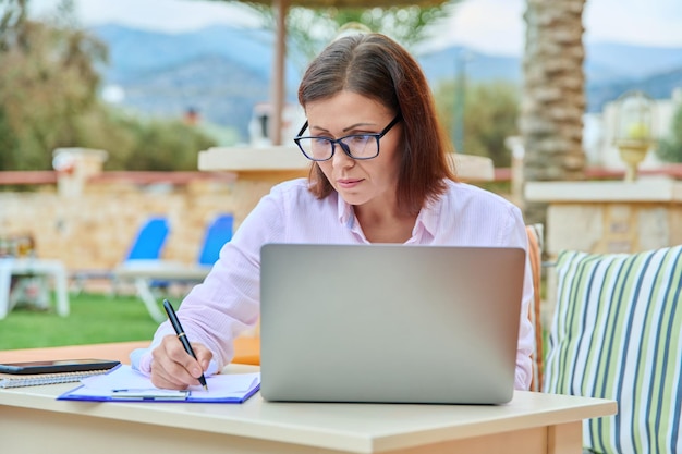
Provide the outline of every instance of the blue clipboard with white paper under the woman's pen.
{"type": "Polygon", "coordinates": [[[206,378],[208,391],[199,384],[187,390],[161,390],[148,377],[127,365],[109,373],[88,377],[81,385],[61,394],[58,401],[168,402],[241,404],[260,389],[260,373],[226,373],[206,378]]]}

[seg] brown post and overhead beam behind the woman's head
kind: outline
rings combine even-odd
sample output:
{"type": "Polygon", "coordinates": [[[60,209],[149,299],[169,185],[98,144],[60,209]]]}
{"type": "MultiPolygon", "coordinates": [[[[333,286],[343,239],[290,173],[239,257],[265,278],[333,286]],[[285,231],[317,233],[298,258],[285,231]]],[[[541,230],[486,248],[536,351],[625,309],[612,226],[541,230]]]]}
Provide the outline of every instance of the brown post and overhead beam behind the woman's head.
{"type": "MultiPolygon", "coordinates": [[[[244,1],[244,0],[218,0],[244,1]]],[[[437,7],[449,0],[249,0],[251,3],[271,4],[276,14],[275,61],[272,66],[272,145],[281,145],[282,111],[284,110],[284,56],[287,26],[284,19],[290,7],[304,8],[389,8],[389,7],[437,7]]]]}

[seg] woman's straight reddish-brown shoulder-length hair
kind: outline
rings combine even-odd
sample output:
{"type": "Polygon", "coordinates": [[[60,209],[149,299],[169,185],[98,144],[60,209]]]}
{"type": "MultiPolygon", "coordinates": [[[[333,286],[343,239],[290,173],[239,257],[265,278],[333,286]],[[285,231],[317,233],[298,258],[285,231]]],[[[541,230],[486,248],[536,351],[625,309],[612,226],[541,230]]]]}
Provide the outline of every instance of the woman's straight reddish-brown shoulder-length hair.
{"type": "MultiPolygon", "coordinates": [[[[331,42],[309,64],[299,86],[299,102],[348,90],[375,99],[402,115],[403,144],[398,204],[417,213],[428,199],[455,180],[451,146],[440,126],[430,87],[416,60],[381,34],[352,35],[331,42]]],[[[310,169],[310,191],[319,198],[333,187],[317,163],[310,169]]]]}

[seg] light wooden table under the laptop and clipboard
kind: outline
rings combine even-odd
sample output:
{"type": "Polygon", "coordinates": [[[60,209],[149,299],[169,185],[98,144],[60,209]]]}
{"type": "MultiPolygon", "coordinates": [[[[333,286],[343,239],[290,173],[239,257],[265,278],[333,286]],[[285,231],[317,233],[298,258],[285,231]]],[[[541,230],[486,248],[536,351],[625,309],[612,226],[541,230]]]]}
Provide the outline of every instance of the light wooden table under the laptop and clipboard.
{"type": "Polygon", "coordinates": [[[0,390],[3,452],[580,454],[582,420],[617,410],[612,401],[533,392],[500,406],[270,403],[259,394],[241,405],[56,400],[73,385],[0,390]]]}

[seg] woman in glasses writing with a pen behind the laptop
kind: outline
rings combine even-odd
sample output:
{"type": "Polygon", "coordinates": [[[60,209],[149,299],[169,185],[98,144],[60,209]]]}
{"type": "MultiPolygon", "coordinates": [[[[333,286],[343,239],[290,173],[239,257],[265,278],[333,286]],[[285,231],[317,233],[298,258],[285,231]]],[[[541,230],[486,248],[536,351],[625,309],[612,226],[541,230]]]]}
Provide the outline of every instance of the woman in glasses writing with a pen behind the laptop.
{"type": "MultiPolygon", "coordinates": [[[[133,364],[160,388],[183,389],[233,356],[232,340],[258,320],[265,243],[400,243],[527,248],[520,210],[456,182],[427,81],[400,45],[379,34],[345,36],[308,66],[299,88],[307,122],[294,140],[309,179],[275,186],[221,250],[179,317],[195,360],[168,323],[133,364]]],[[[515,388],[528,389],[533,296],[526,266],[515,388]]]]}

